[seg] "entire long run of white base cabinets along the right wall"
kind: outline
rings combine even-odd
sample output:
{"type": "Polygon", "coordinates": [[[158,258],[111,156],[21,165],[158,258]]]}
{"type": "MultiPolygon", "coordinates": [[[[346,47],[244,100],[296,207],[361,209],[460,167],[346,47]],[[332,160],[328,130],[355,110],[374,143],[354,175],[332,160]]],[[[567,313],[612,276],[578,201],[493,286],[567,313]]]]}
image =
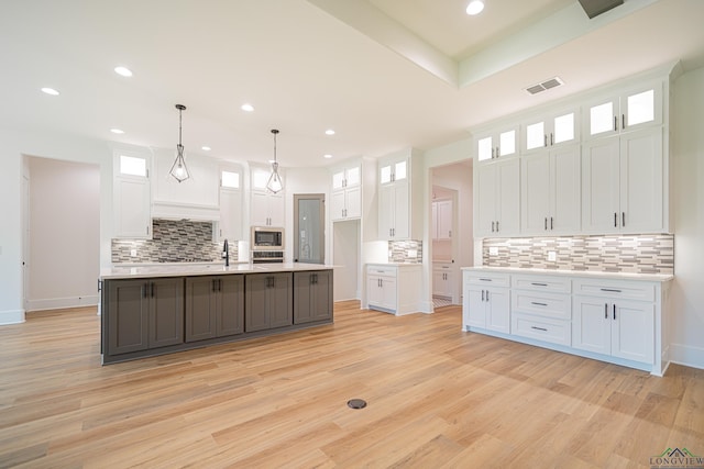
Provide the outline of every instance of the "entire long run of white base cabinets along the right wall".
{"type": "Polygon", "coordinates": [[[482,268],[462,270],[464,331],[656,376],[662,376],[669,365],[670,277],[622,280],[608,273],[600,277],[517,272],[520,269],[512,269],[510,273],[482,268]]]}

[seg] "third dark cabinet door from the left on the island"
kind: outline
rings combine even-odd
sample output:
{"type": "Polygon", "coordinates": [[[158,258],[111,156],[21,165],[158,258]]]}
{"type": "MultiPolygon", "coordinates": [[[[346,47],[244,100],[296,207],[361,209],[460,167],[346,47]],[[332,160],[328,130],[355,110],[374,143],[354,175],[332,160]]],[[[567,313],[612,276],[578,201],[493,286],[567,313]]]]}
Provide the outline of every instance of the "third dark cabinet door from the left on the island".
{"type": "Polygon", "coordinates": [[[186,342],[217,336],[217,286],[212,277],[186,279],[186,342]]]}

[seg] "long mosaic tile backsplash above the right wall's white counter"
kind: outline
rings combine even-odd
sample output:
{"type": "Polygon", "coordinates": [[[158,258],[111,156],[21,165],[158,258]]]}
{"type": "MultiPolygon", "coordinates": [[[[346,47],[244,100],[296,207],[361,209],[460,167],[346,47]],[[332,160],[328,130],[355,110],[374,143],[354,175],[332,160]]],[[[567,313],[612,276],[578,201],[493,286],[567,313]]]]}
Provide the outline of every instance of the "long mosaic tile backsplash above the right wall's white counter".
{"type": "Polygon", "coordinates": [[[482,259],[491,267],[672,275],[674,235],[485,238],[482,259]]]}

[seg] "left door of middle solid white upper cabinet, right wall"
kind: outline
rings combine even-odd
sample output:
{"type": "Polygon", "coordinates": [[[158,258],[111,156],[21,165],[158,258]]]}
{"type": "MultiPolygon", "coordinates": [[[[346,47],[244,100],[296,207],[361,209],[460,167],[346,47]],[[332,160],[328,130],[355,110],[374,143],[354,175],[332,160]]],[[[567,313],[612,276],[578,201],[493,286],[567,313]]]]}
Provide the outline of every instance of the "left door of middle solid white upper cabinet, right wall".
{"type": "Polygon", "coordinates": [[[521,158],[521,233],[546,234],[550,230],[550,155],[547,150],[521,158]]]}

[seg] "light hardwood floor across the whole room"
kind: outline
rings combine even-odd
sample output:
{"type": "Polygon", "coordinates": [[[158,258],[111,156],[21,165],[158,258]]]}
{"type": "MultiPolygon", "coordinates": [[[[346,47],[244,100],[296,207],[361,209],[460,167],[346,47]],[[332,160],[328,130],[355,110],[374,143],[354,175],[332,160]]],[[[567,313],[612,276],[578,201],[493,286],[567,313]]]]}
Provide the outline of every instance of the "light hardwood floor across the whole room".
{"type": "Polygon", "coordinates": [[[650,467],[704,456],[704,370],[664,378],[461,331],[461,309],[101,367],[94,309],[0,327],[0,467],[650,467]],[[348,407],[360,398],[369,405],[348,407]]]}

